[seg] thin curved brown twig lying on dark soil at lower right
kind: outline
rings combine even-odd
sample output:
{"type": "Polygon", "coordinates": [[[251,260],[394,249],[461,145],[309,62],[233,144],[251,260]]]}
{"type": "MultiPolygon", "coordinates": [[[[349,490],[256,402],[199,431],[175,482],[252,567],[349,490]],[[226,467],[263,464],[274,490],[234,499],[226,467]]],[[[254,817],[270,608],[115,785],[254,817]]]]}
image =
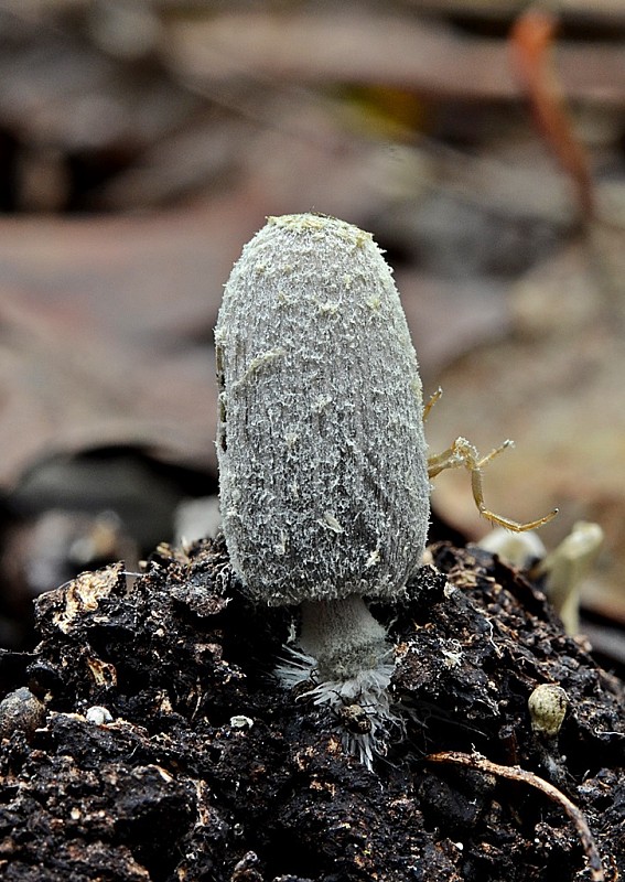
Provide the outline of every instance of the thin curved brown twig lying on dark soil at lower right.
{"type": "Polygon", "coordinates": [[[429,763],[454,763],[455,765],[465,765],[489,775],[498,775],[508,781],[522,782],[530,787],[536,787],[536,789],[543,793],[549,799],[558,803],[572,820],[582,843],[584,854],[586,856],[592,882],[605,882],[601,857],[583,813],[568,796],[564,796],[564,794],[552,784],[539,778],[538,775],[535,775],[532,772],[526,772],[525,768],[520,768],[518,765],[498,765],[497,763],[492,763],[491,760],[487,760],[478,753],[442,751],[441,753],[430,754],[425,760],[429,763]]]}

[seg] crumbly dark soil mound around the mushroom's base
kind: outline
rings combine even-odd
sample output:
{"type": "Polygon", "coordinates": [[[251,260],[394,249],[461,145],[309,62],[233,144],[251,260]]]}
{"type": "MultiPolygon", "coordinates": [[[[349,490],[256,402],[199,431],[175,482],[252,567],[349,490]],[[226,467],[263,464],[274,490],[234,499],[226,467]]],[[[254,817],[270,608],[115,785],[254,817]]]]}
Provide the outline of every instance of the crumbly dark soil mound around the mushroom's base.
{"type": "Polygon", "coordinates": [[[254,607],[222,542],[42,595],[36,650],[0,657],[4,692],[30,689],[0,704],[0,876],[625,879],[623,684],[522,574],[431,552],[401,603],[373,607],[405,722],[373,772],[277,684],[293,611],[254,607]],[[543,682],[569,697],[553,742],[527,710],[543,682]]]}

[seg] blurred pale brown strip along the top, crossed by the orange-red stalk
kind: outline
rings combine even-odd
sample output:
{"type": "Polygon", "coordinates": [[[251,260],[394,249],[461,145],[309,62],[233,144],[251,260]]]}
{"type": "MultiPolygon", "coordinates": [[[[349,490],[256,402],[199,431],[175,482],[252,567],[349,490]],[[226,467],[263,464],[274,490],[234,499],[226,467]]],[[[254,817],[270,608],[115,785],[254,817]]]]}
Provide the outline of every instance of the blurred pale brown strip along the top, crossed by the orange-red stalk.
{"type": "MultiPolygon", "coordinates": [[[[338,82],[410,87],[439,99],[520,96],[503,41],[362,6],[177,19],[164,52],[181,77],[212,95],[250,84],[338,82]]],[[[558,69],[568,96],[625,104],[621,46],[563,43],[558,69]]]]}

